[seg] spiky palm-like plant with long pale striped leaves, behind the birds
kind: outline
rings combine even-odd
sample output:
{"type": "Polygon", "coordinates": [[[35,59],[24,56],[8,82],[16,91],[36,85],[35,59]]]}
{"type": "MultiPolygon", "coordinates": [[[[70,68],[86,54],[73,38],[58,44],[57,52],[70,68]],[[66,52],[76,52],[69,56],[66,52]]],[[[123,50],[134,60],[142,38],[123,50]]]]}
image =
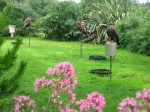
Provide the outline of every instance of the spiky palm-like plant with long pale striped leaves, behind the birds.
{"type": "MultiPolygon", "coordinates": [[[[132,0],[100,0],[93,3],[93,9],[89,14],[91,23],[96,25],[98,41],[106,39],[106,27],[108,24],[116,24],[134,10],[132,0]]],[[[95,37],[95,36],[93,36],[95,37]]]]}

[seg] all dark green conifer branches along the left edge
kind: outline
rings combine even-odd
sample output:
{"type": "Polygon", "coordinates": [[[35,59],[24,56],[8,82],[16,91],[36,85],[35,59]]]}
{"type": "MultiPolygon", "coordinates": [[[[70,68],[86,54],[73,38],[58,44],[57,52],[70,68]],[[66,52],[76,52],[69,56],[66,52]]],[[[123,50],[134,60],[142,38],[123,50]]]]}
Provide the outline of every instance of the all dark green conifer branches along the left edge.
{"type": "MultiPolygon", "coordinates": [[[[12,6],[7,6],[2,13],[0,13],[0,31],[9,24],[10,21],[8,17],[11,14],[12,8],[12,6]]],[[[0,50],[3,43],[4,38],[0,37],[0,50]]],[[[17,51],[19,50],[21,43],[22,39],[17,38],[14,46],[11,49],[8,49],[5,54],[1,54],[2,51],[0,51],[0,100],[7,95],[12,94],[17,89],[18,79],[23,75],[27,65],[26,62],[21,61],[18,70],[14,72],[14,74],[8,76],[7,71],[14,66],[17,59],[17,51]]],[[[3,109],[2,106],[3,102],[0,101],[0,111],[3,109]]]]}

